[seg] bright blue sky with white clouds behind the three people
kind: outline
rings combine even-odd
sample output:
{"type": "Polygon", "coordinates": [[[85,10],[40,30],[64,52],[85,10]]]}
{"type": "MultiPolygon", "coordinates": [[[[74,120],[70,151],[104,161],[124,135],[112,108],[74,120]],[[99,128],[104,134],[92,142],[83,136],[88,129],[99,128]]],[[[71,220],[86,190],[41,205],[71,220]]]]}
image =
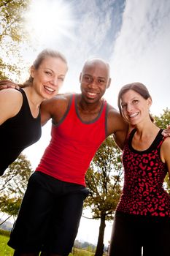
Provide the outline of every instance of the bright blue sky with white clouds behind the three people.
{"type": "MultiPolygon", "coordinates": [[[[80,92],[79,75],[86,59],[109,61],[112,84],[105,99],[117,108],[117,93],[125,83],[144,83],[152,96],[151,113],[170,108],[170,1],[169,0],[34,0],[28,14],[32,48],[23,50],[27,62],[43,48],[61,50],[69,61],[62,92],[80,92]]],[[[50,123],[42,138],[26,149],[33,167],[50,140],[50,123]],[[36,159],[35,159],[35,153],[36,159]]],[[[85,220],[82,221],[83,223],[85,220]]],[[[80,225],[80,236],[97,236],[80,225]]],[[[97,224],[98,225],[98,224],[97,224]]],[[[91,225],[90,225],[91,227],[91,225]]],[[[111,224],[105,242],[109,240],[111,224]]],[[[93,227],[96,231],[97,227],[93,227]]]]}

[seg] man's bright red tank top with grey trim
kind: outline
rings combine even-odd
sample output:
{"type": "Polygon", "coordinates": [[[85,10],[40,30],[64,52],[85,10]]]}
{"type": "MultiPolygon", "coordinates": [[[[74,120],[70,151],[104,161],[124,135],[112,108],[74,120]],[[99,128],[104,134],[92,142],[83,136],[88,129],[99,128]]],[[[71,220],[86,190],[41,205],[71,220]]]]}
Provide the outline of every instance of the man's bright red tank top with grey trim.
{"type": "Polygon", "coordinates": [[[79,116],[77,97],[73,94],[62,120],[52,124],[50,144],[36,171],[85,186],[85,173],[106,137],[107,102],[104,101],[97,118],[85,122],[79,116]]]}

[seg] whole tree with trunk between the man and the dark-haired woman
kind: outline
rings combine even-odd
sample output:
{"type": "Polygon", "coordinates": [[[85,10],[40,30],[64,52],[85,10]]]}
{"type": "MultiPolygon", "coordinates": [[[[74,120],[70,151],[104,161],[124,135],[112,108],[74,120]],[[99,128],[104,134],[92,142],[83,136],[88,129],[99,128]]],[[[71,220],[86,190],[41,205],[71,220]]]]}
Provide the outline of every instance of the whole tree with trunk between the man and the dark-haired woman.
{"type": "Polygon", "coordinates": [[[93,219],[100,219],[96,256],[103,255],[105,222],[113,219],[120,199],[122,173],[120,149],[109,137],[96,152],[85,177],[90,195],[84,206],[91,209],[93,219]]]}

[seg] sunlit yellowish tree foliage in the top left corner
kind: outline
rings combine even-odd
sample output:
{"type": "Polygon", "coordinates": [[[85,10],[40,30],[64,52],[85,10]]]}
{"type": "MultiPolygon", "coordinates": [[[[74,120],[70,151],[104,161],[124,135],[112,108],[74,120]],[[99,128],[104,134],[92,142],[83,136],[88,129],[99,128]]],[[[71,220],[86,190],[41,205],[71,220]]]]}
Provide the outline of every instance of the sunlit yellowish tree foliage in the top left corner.
{"type": "Polygon", "coordinates": [[[20,71],[12,61],[18,61],[20,42],[28,39],[23,18],[29,0],[0,0],[0,79],[20,71]],[[10,64],[9,64],[10,63],[10,64]]]}

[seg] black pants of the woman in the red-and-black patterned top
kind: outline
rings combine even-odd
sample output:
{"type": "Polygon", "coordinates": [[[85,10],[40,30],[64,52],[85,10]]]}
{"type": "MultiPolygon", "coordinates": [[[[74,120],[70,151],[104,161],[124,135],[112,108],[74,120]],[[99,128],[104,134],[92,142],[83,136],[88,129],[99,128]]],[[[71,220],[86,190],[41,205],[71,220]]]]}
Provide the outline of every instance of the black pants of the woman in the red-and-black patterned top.
{"type": "Polygon", "coordinates": [[[170,218],[116,212],[109,256],[170,256],[170,218]]]}

